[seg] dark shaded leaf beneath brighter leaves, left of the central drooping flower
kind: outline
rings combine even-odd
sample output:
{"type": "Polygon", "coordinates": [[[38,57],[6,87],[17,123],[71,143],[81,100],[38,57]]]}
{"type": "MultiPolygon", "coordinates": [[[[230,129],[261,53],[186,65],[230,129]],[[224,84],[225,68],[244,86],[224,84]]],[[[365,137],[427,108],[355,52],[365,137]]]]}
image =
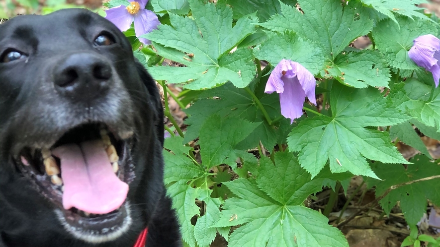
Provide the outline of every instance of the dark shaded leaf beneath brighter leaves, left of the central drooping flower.
{"type": "MultiPolygon", "coordinates": [[[[185,112],[190,114],[186,120],[189,124],[184,137],[184,142],[189,142],[199,136],[201,124],[213,114],[221,117],[236,117],[248,120],[253,123],[261,123],[255,130],[239,143],[237,149],[246,150],[257,146],[261,140],[265,147],[273,147],[277,143],[277,137],[290,126],[288,120],[283,119],[277,126],[270,126],[264,119],[261,110],[257,107],[252,97],[244,89],[234,87],[227,83],[221,87],[205,91],[199,96],[201,100],[195,102],[185,112]],[[215,96],[216,98],[212,98],[215,96]],[[208,98],[209,97],[209,98],[208,98]]],[[[275,119],[280,114],[279,96],[277,94],[264,94],[260,98],[264,108],[271,119],[275,119]]]]}

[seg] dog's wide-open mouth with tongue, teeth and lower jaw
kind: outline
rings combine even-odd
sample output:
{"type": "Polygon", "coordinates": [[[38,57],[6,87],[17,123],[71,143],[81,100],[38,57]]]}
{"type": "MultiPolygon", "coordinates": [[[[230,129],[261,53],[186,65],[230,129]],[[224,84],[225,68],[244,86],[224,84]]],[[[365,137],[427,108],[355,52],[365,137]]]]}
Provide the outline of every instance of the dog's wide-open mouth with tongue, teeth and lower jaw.
{"type": "Polygon", "coordinates": [[[83,124],[50,148],[23,148],[15,160],[72,233],[110,236],[131,221],[126,197],[134,139],[124,137],[102,123],[83,124]]]}

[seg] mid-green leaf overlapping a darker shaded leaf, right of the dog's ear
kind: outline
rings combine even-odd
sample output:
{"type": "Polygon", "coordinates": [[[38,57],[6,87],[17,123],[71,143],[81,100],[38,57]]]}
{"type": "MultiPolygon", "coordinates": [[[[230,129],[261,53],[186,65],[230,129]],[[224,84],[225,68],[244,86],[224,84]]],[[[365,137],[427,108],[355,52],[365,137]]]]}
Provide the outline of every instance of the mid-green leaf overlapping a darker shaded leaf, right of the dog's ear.
{"type": "Polygon", "coordinates": [[[240,157],[235,146],[245,139],[259,123],[214,114],[200,128],[200,155],[203,165],[213,167],[231,164],[240,157]]]}

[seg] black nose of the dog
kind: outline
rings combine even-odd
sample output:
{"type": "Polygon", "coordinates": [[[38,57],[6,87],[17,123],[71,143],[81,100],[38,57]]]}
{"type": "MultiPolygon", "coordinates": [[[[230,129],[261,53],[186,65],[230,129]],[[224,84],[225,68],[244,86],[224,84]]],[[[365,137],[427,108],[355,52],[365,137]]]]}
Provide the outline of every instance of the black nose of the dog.
{"type": "Polygon", "coordinates": [[[76,53],[55,66],[55,88],[76,100],[93,99],[108,91],[111,67],[98,55],[76,53]]]}

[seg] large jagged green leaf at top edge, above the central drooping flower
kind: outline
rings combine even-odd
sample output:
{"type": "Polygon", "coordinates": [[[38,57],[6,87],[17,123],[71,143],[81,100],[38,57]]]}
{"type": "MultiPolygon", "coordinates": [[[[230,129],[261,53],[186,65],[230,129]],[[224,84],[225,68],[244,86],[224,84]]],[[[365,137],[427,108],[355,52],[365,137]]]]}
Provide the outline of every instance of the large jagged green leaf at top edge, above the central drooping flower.
{"type": "Polygon", "coordinates": [[[275,14],[261,25],[272,31],[291,30],[317,42],[323,48],[323,55],[330,60],[334,60],[354,39],[366,35],[373,25],[362,8],[354,8],[352,4],[343,8],[339,0],[298,2],[304,14],[281,3],[282,14],[275,14]]]}

